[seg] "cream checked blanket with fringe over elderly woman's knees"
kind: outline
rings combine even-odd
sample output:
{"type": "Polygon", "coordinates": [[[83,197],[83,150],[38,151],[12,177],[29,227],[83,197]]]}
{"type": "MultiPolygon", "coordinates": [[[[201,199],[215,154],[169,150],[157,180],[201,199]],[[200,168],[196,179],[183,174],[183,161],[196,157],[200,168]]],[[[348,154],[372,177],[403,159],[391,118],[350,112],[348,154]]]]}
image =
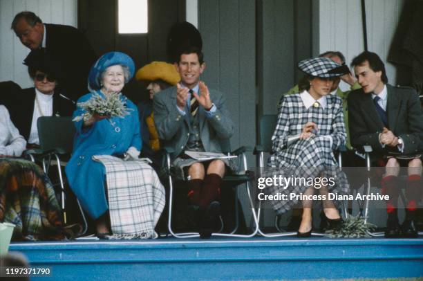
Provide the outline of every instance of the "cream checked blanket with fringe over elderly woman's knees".
{"type": "Polygon", "coordinates": [[[95,155],[106,168],[107,196],[112,237],[109,239],[156,238],[154,228],[165,204],[164,188],[153,168],[141,159],[124,161],[95,155]]]}

